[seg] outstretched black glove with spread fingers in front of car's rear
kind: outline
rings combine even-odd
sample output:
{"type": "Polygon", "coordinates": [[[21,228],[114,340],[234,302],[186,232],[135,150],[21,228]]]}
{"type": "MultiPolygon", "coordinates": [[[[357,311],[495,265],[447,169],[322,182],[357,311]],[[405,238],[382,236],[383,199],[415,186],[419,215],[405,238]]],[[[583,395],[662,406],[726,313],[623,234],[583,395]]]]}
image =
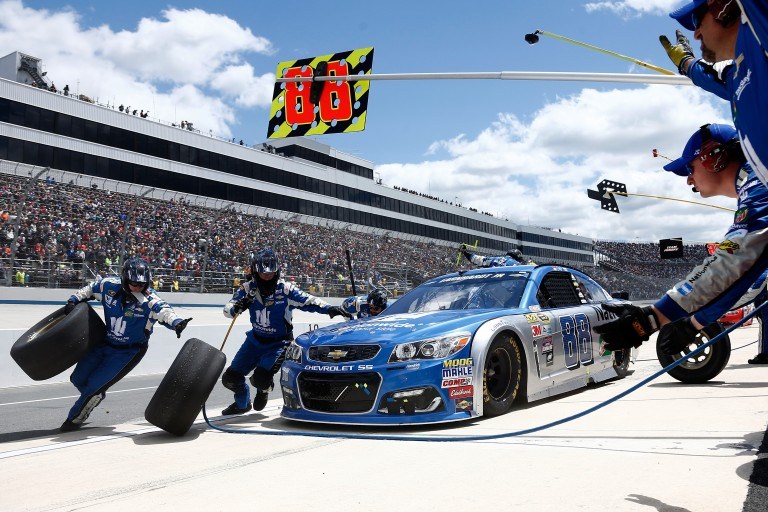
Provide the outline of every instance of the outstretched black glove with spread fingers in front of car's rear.
{"type": "Polygon", "coordinates": [[[654,332],[659,330],[659,320],[651,306],[643,308],[632,304],[603,304],[603,309],[619,315],[607,324],[595,327],[603,336],[605,348],[616,352],[630,347],[639,347],[654,332]]]}

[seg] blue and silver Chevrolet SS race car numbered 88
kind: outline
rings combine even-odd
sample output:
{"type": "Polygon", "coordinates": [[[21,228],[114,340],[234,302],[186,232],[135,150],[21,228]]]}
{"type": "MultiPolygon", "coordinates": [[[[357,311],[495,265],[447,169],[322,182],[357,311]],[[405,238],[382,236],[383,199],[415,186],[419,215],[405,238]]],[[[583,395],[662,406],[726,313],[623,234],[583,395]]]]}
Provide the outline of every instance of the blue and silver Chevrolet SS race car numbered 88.
{"type": "Polygon", "coordinates": [[[496,416],[628,373],[594,327],[615,318],[592,278],[553,266],[433,278],[380,315],[317,329],[286,348],[284,418],[415,425],[496,416]]]}

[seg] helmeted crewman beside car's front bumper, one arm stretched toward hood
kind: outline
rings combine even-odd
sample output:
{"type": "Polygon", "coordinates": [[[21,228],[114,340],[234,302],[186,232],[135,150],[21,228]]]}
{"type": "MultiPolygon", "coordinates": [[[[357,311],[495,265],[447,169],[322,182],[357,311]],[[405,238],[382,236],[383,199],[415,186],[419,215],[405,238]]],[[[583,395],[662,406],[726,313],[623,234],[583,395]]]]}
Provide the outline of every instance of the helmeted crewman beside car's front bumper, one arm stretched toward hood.
{"type": "Polygon", "coordinates": [[[251,261],[251,280],[241,284],[224,306],[227,318],[247,310],[252,329],[221,376],[224,387],[235,394],[235,401],[221,414],[243,414],[251,410],[250,390],[245,382],[245,376],[251,372],[250,381],[256,388],[253,409],[260,411],[267,405],[269,391],[274,387],[272,378],[278,369],[275,362],[293,339],[294,309],[325,313],[331,318],[351,317],[339,306],[331,306],[281,279],[280,262],[272,249],[258,251],[251,261]]]}

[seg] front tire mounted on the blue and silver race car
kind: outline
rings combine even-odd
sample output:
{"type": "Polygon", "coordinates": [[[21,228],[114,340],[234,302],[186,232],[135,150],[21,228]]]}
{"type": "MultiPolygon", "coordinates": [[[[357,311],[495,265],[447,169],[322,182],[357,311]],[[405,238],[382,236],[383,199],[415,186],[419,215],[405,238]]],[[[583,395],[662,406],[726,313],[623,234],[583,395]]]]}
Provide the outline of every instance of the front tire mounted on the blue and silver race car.
{"type": "Polygon", "coordinates": [[[491,342],[483,366],[483,415],[498,416],[509,411],[523,381],[523,355],[510,335],[491,342]]]}

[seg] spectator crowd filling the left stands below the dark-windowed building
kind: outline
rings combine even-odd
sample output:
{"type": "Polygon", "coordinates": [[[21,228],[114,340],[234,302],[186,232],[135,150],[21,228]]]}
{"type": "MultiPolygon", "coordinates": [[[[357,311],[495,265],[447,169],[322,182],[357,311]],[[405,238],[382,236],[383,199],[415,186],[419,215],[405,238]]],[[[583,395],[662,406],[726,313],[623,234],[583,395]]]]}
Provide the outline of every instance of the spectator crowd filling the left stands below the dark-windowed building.
{"type": "MultiPolygon", "coordinates": [[[[269,216],[213,210],[189,201],[135,196],[4,175],[0,185],[0,242],[4,267],[13,243],[13,217],[24,198],[16,237],[19,260],[34,269],[59,264],[109,273],[126,256],[147,259],[160,274],[182,281],[205,270],[227,286],[248,268],[250,254],[269,246],[281,256],[283,275],[299,283],[348,279],[345,249],[356,261],[356,279],[381,281],[378,267],[397,267],[423,279],[455,268],[456,248],[402,240],[269,216]],[[363,268],[366,267],[366,268],[363,268]],[[373,274],[373,275],[369,275],[373,274]]],[[[82,274],[82,272],[81,272],[82,274]]],[[[88,277],[88,276],[84,276],[88,277]]],[[[167,280],[171,282],[171,279],[167,280]]]]}

